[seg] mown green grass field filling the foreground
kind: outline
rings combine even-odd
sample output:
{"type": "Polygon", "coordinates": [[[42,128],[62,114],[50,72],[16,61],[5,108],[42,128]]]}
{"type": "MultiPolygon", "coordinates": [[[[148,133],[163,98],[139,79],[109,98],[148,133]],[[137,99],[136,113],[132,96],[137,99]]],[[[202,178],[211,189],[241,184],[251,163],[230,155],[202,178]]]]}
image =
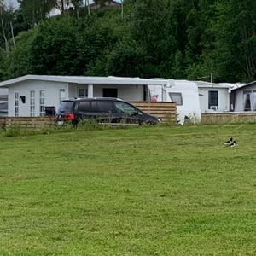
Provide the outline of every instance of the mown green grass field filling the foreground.
{"type": "Polygon", "coordinates": [[[0,160],[0,255],[256,255],[256,125],[0,137],[0,160]]]}

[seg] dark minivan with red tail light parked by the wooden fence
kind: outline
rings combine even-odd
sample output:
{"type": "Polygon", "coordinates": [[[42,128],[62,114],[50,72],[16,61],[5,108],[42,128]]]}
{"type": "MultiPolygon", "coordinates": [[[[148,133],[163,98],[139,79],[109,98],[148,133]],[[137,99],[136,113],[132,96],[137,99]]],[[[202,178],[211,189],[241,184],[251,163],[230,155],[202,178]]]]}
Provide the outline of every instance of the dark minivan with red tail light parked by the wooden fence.
{"type": "Polygon", "coordinates": [[[63,125],[65,121],[77,125],[83,119],[112,124],[155,125],[160,122],[158,117],[143,113],[131,103],[117,98],[83,98],[61,102],[56,113],[56,125],[63,125]]]}

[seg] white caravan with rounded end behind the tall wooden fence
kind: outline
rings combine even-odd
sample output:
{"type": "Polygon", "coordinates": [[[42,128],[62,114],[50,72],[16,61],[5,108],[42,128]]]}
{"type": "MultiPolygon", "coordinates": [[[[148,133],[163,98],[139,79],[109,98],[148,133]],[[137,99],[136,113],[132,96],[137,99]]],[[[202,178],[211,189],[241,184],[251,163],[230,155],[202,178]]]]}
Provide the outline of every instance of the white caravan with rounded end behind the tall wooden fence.
{"type": "Polygon", "coordinates": [[[177,121],[201,121],[198,87],[194,82],[169,79],[166,85],[148,85],[152,101],[177,102],[177,121]]]}

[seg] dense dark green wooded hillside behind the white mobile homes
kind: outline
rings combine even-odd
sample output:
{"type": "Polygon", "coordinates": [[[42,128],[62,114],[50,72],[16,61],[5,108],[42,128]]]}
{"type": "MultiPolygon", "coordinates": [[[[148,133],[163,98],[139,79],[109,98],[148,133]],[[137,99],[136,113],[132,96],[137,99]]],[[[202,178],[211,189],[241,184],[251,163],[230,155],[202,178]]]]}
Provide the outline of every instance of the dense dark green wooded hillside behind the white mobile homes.
{"type": "Polygon", "coordinates": [[[27,73],[255,79],[253,0],[126,0],[124,15],[120,8],[89,13],[73,1],[73,12],[52,18],[49,9],[63,1],[43,2],[20,0],[20,9],[9,15],[15,35],[31,30],[19,34],[14,47],[5,27],[9,50],[3,51],[1,37],[0,79],[27,73]]]}

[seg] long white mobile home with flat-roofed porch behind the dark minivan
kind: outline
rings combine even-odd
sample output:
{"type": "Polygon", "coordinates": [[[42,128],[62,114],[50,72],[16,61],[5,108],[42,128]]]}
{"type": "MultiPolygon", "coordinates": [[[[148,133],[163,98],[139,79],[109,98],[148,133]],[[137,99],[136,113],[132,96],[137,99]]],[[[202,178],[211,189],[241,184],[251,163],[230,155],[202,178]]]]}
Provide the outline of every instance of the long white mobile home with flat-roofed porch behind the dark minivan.
{"type": "Polygon", "coordinates": [[[48,107],[56,110],[67,98],[118,97],[125,101],[148,100],[148,84],[164,86],[166,80],[26,75],[0,83],[9,89],[9,116],[40,116],[48,107]]]}

